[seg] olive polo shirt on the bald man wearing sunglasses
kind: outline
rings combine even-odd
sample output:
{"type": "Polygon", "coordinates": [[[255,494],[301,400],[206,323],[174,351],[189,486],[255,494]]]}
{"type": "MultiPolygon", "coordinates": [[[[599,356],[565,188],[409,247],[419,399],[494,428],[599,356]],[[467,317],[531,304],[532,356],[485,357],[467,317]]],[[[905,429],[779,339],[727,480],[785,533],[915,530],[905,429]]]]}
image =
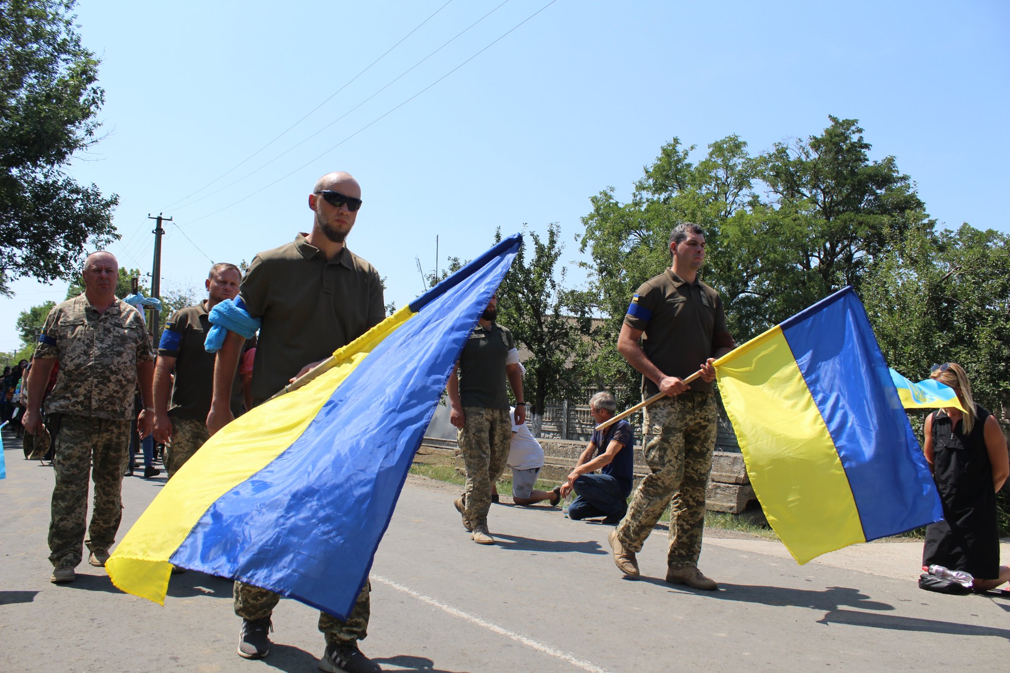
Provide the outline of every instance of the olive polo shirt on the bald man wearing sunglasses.
{"type": "Polygon", "coordinates": [[[386,317],[375,267],[346,247],[327,261],[305,236],[258,254],[242,278],[245,310],[263,320],[252,362],[254,404],[386,317]]]}

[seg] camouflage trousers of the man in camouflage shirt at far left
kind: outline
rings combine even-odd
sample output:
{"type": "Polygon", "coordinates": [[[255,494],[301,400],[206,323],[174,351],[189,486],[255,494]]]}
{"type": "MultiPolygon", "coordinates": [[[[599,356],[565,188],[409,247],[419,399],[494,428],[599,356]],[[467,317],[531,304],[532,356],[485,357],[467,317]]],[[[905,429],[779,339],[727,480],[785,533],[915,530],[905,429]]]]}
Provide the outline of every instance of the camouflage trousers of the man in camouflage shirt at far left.
{"type": "Polygon", "coordinates": [[[121,487],[129,453],[129,421],[63,414],[54,442],[57,483],[49,521],[49,561],[58,567],[77,566],[84,544],[93,552],[105,552],[115,542],[122,518],[121,487]],[[95,482],[95,499],[85,540],[89,471],[95,482]]]}

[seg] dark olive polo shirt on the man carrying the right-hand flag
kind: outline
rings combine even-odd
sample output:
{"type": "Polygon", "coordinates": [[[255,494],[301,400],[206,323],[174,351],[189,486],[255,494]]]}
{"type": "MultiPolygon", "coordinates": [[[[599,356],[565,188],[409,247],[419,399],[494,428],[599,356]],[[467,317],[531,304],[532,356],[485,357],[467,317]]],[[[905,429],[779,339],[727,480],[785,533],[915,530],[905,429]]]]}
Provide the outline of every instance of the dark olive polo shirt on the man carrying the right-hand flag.
{"type": "MultiPolygon", "coordinates": [[[[649,278],[631,298],[624,324],[641,330],[645,356],[668,376],[685,378],[717,350],[716,343],[731,344],[719,293],[697,277],[685,283],[672,268],[649,278]]],[[[711,390],[712,383],[692,381],[692,390],[711,390]]],[[[660,388],[642,376],[647,396],[660,388]]]]}

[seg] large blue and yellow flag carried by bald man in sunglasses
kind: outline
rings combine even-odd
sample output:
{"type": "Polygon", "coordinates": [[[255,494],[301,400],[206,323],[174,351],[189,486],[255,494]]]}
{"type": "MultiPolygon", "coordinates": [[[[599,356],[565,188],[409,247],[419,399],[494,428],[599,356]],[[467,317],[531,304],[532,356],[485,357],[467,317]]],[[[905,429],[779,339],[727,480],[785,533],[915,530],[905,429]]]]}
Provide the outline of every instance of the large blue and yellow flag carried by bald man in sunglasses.
{"type": "Polygon", "coordinates": [[[445,381],[518,234],[235,419],[166,483],[105,567],[164,604],[172,565],[346,619],[445,381]]]}

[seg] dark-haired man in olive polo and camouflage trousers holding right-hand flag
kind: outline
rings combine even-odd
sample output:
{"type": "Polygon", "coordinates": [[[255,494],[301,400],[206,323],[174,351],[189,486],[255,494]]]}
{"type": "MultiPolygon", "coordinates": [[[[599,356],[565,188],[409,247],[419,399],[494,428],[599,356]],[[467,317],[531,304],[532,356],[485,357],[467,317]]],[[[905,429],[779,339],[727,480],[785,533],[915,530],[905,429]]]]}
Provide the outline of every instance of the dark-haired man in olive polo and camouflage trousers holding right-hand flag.
{"type": "Polygon", "coordinates": [[[673,498],[667,581],[696,589],[718,588],[698,569],[705,524],[705,488],[715,448],[715,358],[734,347],[719,294],[698,279],[705,262],[705,234],[696,224],[674,228],[673,263],[643,283],[631,299],[617,349],[642,373],[642,397],[668,397],[645,408],[650,474],[638,484],[627,514],[610,533],[614,562],[637,576],[641,550],[673,498]],[[639,339],[642,338],[641,343],[639,339]],[[702,380],[682,379],[701,369],[702,380]]]}

